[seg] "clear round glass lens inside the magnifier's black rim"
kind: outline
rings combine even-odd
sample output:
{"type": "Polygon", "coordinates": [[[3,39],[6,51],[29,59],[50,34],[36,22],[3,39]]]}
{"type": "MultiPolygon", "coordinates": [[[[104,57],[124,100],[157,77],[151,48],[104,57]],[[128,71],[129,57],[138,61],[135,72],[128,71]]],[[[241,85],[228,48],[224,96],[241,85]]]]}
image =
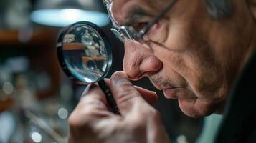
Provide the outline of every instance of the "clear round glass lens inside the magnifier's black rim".
{"type": "Polygon", "coordinates": [[[62,41],[63,59],[70,73],[81,82],[98,82],[108,66],[105,43],[93,27],[70,26],[62,41]]]}

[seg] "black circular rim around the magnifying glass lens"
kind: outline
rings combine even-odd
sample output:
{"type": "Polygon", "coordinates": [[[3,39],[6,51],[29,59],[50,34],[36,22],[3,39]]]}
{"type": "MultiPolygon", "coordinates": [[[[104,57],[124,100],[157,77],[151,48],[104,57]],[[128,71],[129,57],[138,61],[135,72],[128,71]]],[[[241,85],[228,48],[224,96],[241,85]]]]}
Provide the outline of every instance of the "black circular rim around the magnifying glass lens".
{"type": "Polygon", "coordinates": [[[100,80],[104,79],[105,75],[107,75],[108,72],[110,71],[110,68],[112,66],[113,56],[112,56],[112,50],[111,50],[111,45],[110,45],[110,41],[108,39],[108,36],[105,34],[103,29],[100,29],[100,27],[97,26],[96,24],[93,24],[93,23],[88,22],[88,21],[78,21],[78,22],[76,22],[74,24],[71,24],[70,26],[66,26],[64,29],[62,29],[60,31],[60,34],[59,34],[58,40],[57,40],[57,56],[58,56],[58,59],[59,59],[59,62],[60,62],[60,66],[62,67],[62,70],[65,72],[67,77],[70,77],[70,79],[72,79],[77,84],[91,84],[91,83],[95,83],[95,82],[85,82],[85,81],[81,81],[80,79],[77,79],[77,77],[72,75],[72,72],[67,67],[67,64],[65,63],[65,60],[64,60],[64,55],[63,55],[63,50],[62,50],[63,39],[64,39],[65,34],[67,33],[67,31],[72,26],[76,26],[78,24],[85,24],[87,26],[91,26],[93,29],[95,29],[95,31],[98,32],[98,34],[100,34],[101,39],[103,39],[103,41],[104,41],[105,50],[106,50],[107,56],[108,56],[108,63],[107,63],[107,66],[106,66],[106,69],[105,69],[105,72],[103,73],[103,75],[98,80],[95,81],[95,82],[99,82],[100,80]]]}

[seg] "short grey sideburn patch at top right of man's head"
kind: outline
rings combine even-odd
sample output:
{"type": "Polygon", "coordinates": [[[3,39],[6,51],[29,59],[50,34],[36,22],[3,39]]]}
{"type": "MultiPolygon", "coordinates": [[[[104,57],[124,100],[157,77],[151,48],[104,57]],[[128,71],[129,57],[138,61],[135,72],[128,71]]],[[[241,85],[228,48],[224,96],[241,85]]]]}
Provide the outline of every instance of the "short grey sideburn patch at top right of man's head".
{"type": "Polygon", "coordinates": [[[215,19],[227,18],[233,14],[232,0],[206,0],[208,13],[215,19]]]}

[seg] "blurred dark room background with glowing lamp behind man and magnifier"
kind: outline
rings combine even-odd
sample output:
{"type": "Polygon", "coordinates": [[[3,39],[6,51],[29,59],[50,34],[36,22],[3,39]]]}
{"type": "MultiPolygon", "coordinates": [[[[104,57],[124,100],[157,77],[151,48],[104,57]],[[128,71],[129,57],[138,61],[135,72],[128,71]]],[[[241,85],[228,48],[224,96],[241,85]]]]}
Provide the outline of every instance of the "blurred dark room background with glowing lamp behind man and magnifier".
{"type": "MultiPolygon", "coordinates": [[[[0,143],[67,142],[67,119],[85,86],[63,74],[56,43],[60,29],[75,21],[92,21],[105,31],[113,46],[110,74],[122,70],[123,44],[110,33],[103,1],[0,1],[0,143]]],[[[134,84],[156,90],[148,79],[134,84]]],[[[195,142],[202,119],[186,117],[162,94],[155,107],[172,142],[195,142]]]]}

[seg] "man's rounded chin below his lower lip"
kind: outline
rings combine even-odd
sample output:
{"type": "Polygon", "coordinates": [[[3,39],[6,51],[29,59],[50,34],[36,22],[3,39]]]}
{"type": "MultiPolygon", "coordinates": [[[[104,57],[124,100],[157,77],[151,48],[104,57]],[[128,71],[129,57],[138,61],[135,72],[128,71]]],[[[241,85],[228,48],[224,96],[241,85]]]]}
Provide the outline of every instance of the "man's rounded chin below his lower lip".
{"type": "Polygon", "coordinates": [[[215,111],[213,104],[204,104],[197,99],[178,99],[181,111],[189,117],[205,117],[215,111]]]}

